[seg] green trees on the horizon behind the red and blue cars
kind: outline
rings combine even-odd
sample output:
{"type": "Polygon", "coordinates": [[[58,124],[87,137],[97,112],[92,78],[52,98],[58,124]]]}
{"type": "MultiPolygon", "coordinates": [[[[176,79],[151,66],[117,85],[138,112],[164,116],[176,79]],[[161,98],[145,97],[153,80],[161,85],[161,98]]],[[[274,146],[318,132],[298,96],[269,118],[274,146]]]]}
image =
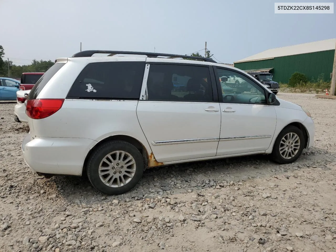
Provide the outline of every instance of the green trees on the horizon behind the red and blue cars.
{"type": "Polygon", "coordinates": [[[11,60],[4,60],[4,49],[0,45],[0,76],[10,77],[10,78],[21,78],[22,73],[29,72],[46,72],[52,65],[54,61],[51,60],[36,60],[33,59],[31,64],[17,66],[13,64],[11,60]],[[8,76],[8,65],[9,65],[9,76],[8,76]]]}

